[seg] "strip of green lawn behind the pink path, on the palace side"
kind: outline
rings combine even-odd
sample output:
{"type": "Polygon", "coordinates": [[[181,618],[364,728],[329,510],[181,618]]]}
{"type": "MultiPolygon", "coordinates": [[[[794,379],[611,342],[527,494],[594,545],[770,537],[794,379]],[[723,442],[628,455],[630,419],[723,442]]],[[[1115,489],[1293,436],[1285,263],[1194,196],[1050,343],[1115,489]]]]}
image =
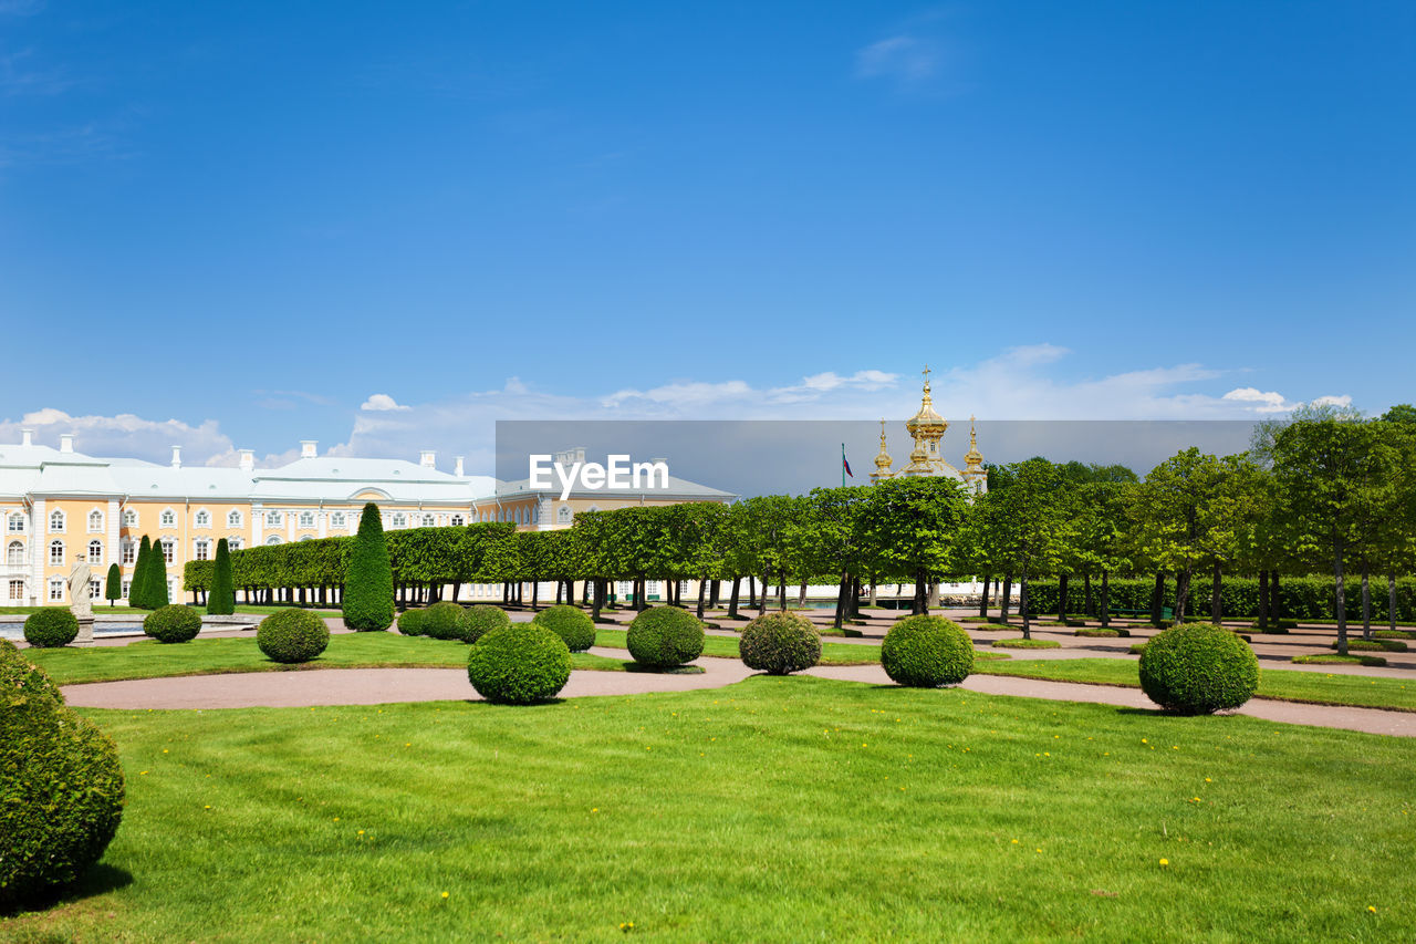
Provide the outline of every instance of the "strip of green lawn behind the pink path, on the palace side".
{"type": "MultiPolygon", "coordinates": [[[[242,639],[193,639],[173,645],[152,641],[126,646],[25,649],[25,658],[50,673],[59,685],[116,682],[169,675],[225,675],[229,672],[289,672],[303,669],[374,668],[464,668],[467,646],[462,642],[402,636],[392,632],[348,632],[330,636],[319,659],[287,666],[270,662],[256,648],[255,635],[242,639]]],[[[576,669],[623,672],[624,661],[576,652],[576,669]]]]}

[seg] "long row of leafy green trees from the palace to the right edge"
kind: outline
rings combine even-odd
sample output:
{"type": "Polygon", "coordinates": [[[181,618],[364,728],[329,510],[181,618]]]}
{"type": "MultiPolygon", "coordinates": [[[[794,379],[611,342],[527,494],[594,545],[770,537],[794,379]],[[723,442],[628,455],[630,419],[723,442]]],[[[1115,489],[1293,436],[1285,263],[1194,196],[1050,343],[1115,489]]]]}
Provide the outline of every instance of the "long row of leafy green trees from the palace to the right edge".
{"type": "MultiPolygon", "coordinates": [[[[1175,580],[1175,619],[1198,609],[1197,578],[1209,580],[1209,617],[1221,619],[1225,575],[1257,575],[1262,625],[1276,618],[1280,575],[1331,570],[1341,651],[1347,645],[1344,574],[1362,574],[1364,624],[1371,626],[1369,574],[1396,575],[1416,563],[1416,410],[1379,420],[1338,408],[1310,408],[1294,421],[1263,424],[1243,455],[1185,449],[1144,481],[1121,466],[1058,465],[1042,458],[990,469],[983,496],[943,478],[892,479],[875,486],[760,496],[732,506],[685,503],[583,512],[573,527],[515,533],[510,524],[413,529],[387,536],[389,597],[436,600],[442,587],[503,583],[521,602],[523,584],[556,584],[569,598],[576,581],[596,608],[610,581],[633,585],[643,607],[649,580],[698,580],[697,608],[718,605],[731,581],[736,618],[743,583],[748,607],[763,611],[769,588],[786,608],[787,587],[838,585],[835,621],[855,615],[865,587],[913,584],[912,609],[925,612],[940,580],[981,577],[987,612],[993,587],[1008,618],[1020,588],[1024,635],[1031,635],[1029,584],[1059,581],[1059,615],[1075,612],[1068,581],[1080,577],[1086,609],[1109,618],[1113,575],[1154,575],[1151,615],[1161,617],[1175,580]],[[1093,594],[1093,580],[1099,592],[1093,594]],[[760,592],[759,592],[760,587],[760,592]]],[[[287,587],[300,601],[333,602],[353,574],[360,539],[256,547],[232,556],[234,581],[252,594],[287,587]]],[[[160,553],[160,551],[159,551],[160,553]]],[[[205,588],[211,564],[187,567],[188,590],[205,588]]],[[[375,567],[377,570],[377,567],[375,567]]],[[[350,592],[372,580],[365,567],[350,592]]],[[[382,594],[382,590],[377,590],[382,594]]],[[[1395,617],[1395,598],[1389,607],[1395,617]]]]}

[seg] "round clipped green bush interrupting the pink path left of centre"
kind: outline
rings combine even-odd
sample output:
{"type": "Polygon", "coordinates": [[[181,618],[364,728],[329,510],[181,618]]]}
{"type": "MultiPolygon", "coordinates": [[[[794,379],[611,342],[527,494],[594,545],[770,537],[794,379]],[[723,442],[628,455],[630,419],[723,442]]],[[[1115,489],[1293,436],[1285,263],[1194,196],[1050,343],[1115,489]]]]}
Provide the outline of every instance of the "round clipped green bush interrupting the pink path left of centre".
{"type": "Polygon", "coordinates": [[[571,679],[571,651],[545,626],[513,624],[472,646],[467,679],[477,695],[497,704],[544,702],[571,679]]]}

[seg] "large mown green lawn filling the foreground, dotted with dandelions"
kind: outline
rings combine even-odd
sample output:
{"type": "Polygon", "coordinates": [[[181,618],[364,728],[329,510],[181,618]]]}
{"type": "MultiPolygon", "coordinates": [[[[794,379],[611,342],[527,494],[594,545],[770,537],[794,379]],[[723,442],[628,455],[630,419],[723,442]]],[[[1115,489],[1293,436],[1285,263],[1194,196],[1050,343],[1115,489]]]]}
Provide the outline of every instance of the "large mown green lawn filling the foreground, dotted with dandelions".
{"type": "Polygon", "coordinates": [[[1406,738],[801,676],[532,709],[86,713],[123,757],[123,825],[75,896],[0,918],[3,940],[1416,926],[1406,738]]]}

